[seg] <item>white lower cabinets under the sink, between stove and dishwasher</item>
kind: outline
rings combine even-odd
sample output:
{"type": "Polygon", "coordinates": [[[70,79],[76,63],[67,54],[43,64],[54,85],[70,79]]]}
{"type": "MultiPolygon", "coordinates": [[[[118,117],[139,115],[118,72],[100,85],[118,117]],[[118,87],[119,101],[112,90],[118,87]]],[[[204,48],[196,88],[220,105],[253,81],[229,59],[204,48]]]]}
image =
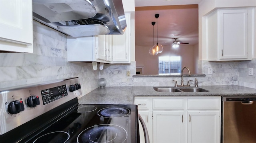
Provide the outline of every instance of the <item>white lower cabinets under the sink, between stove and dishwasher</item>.
{"type": "Polygon", "coordinates": [[[137,96],[135,104],[150,117],[150,143],[220,143],[220,96],[137,96]]]}

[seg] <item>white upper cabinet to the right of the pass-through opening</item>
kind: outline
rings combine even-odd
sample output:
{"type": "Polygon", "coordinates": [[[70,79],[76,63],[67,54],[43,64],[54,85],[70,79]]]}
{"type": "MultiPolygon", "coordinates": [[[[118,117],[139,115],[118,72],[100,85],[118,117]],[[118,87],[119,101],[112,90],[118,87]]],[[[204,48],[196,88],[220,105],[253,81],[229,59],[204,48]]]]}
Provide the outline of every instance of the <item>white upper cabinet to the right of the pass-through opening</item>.
{"type": "Polygon", "coordinates": [[[209,61],[252,60],[253,8],[218,9],[206,16],[209,61]]]}

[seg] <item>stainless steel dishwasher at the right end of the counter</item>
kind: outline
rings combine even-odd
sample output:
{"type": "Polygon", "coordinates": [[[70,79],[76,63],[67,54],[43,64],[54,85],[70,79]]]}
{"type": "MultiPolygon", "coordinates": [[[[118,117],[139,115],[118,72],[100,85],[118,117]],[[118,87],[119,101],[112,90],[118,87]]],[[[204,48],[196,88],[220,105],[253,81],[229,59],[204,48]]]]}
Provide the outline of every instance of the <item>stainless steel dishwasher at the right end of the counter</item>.
{"type": "Polygon", "coordinates": [[[222,98],[222,143],[256,143],[256,96],[222,98]]]}

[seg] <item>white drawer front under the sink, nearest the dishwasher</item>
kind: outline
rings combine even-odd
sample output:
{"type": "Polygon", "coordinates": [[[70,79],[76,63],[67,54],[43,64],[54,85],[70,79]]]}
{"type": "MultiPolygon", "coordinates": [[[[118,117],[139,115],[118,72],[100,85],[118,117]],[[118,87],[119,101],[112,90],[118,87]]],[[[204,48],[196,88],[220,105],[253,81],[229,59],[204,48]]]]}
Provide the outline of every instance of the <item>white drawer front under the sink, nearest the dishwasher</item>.
{"type": "Polygon", "coordinates": [[[188,109],[220,109],[220,98],[188,99],[188,109]]]}

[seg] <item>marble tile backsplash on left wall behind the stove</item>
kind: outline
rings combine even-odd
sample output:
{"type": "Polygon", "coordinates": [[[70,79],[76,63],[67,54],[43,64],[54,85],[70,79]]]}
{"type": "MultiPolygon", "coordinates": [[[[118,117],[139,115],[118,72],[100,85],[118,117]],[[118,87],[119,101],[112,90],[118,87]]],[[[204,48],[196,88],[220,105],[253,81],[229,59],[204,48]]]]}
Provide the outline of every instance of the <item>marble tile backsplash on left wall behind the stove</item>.
{"type": "Polygon", "coordinates": [[[67,61],[66,35],[33,22],[33,53],[0,53],[0,88],[79,77],[82,95],[98,87],[91,63],[67,61]]]}

